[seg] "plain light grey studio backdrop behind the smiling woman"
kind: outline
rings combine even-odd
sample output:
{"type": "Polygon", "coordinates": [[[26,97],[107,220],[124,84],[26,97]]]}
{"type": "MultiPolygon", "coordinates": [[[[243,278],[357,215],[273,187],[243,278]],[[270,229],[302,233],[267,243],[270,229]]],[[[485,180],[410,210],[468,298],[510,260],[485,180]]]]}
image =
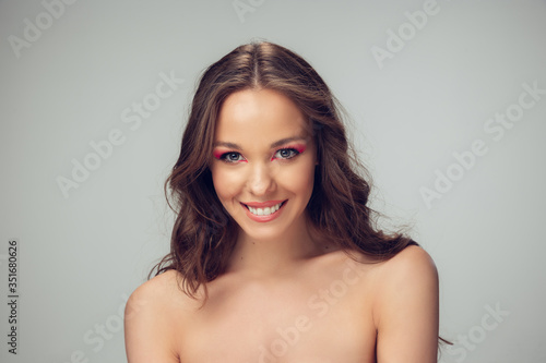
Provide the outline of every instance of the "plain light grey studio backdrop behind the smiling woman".
{"type": "Polygon", "coordinates": [[[441,362],[546,361],[545,1],[10,0],[0,34],[2,362],[126,361],[195,81],[252,39],[351,114],[373,206],[438,266],[441,362]]]}

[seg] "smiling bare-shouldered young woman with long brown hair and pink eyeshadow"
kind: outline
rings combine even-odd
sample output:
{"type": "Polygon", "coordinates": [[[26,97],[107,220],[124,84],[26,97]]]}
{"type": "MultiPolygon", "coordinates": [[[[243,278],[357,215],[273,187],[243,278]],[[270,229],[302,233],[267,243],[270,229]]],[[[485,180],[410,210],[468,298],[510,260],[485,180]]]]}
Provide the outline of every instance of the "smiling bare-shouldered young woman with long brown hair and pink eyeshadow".
{"type": "Polygon", "coordinates": [[[129,363],[437,362],[435,264],[375,227],[351,150],[293,51],[212,64],[165,185],[171,251],[126,307],[129,363]]]}

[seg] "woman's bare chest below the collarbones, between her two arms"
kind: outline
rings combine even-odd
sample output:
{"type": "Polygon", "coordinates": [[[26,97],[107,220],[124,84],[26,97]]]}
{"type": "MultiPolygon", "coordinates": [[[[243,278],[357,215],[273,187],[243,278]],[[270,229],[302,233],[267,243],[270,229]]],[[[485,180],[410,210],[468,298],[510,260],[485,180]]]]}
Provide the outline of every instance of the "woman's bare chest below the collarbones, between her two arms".
{"type": "Polygon", "coordinates": [[[343,280],[218,294],[185,319],[180,361],[375,362],[369,301],[343,280]]]}

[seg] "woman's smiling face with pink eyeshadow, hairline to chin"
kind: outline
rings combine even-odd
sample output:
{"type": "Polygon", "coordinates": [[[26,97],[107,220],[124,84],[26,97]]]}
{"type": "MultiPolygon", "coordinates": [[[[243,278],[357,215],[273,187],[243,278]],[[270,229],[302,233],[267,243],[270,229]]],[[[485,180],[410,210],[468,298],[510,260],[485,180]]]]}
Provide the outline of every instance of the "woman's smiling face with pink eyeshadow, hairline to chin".
{"type": "Polygon", "coordinates": [[[251,239],[304,228],[317,150],[304,114],[271,89],[245,89],[224,101],[211,172],[216,194],[251,239]]]}

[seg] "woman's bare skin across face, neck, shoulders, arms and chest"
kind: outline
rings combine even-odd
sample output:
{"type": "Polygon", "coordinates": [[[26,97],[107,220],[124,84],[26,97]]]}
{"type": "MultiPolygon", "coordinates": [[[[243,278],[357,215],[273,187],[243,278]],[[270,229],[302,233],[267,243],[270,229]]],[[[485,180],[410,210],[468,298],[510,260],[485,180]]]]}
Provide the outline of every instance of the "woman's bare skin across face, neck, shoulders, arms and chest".
{"type": "Polygon", "coordinates": [[[129,363],[437,362],[430,256],[408,246],[375,264],[354,253],[356,263],[309,233],[317,149],[305,125],[296,105],[274,90],[225,100],[210,168],[240,228],[228,268],[207,283],[201,308],[178,289],[174,270],[140,286],[126,307],[129,363]],[[268,222],[241,205],[278,199],[287,203],[268,222]]]}

